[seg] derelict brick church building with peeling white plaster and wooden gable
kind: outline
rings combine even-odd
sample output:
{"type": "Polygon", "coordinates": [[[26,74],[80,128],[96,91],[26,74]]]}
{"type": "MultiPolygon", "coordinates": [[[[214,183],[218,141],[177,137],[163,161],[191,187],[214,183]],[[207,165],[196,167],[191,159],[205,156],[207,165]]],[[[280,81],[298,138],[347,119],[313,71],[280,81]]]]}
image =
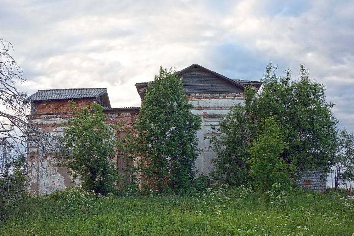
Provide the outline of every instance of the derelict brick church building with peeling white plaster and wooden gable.
{"type": "MultiPolygon", "coordinates": [[[[193,105],[192,113],[202,119],[202,127],[196,133],[199,139],[197,150],[199,158],[196,161],[196,168],[200,173],[209,174],[213,168],[212,160],[215,152],[209,150],[209,140],[205,137],[213,132],[212,126],[218,127],[222,115],[227,114],[235,104],[244,103],[244,87],[252,85],[259,90],[261,82],[249,80],[229,79],[214,71],[201,67],[198,64],[177,72],[183,77],[183,86],[187,92],[188,99],[193,105]]],[[[135,84],[137,93],[143,100],[147,85],[151,82],[135,84]]],[[[43,131],[52,134],[61,134],[64,127],[61,123],[66,122],[73,115],[70,111],[70,100],[74,100],[78,108],[87,107],[91,103],[98,103],[104,108],[107,123],[115,124],[124,121],[123,131],[119,133],[124,137],[125,132],[136,133],[133,123],[139,113],[139,107],[112,108],[106,88],[69,88],[56,90],[39,90],[28,98],[32,103],[31,116],[33,122],[43,131]]],[[[28,148],[28,183],[29,190],[39,190],[43,193],[50,193],[66,186],[74,186],[74,182],[67,175],[67,169],[54,167],[51,157],[45,157],[44,163],[38,163],[35,146],[28,148]],[[38,178],[39,168],[47,168],[48,174],[44,178],[38,178]],[[54,170],[54,171],[52,171],[54,170]]],[[[117,155],[113,158],[118,169],[124,169],[126,161],[124,155],[117,155]]],[[[129,181],[129,178],[128,178],[129,181]]],[[[297,180],[298,184],[305,188],[324,191],[326,189],[326,177],[320,172],[304,172],[303,177],[297,180]]]]}

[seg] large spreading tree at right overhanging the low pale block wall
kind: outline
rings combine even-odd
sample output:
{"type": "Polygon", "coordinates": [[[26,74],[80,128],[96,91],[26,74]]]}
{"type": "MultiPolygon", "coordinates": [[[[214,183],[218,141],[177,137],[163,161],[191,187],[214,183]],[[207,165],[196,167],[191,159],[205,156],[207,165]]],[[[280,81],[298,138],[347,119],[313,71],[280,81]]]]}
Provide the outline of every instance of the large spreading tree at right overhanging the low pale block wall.
{"type": "MultiPolygon", "coordinates": [[[[251,138],[261,124],[257,122],[269,113],[276,115],[276,122],[289,143],[283,156],[299,169],[321,168],[329,171],[336,147],[336,125],[331,108],[326,101],[325,86],[309,79],[309,71],[301,65],[299,80],[291,81],[291,71],[284,76],[275,74],[277,67],[269,64],[262,80],[262,92],[253,96],[247,114],[254,126],[250,126],[251,138]]],[[[250,96],[251,97],[251,96],[250,96]]],[[[247,98],[246,98],[247,99],[247,98]]]]}

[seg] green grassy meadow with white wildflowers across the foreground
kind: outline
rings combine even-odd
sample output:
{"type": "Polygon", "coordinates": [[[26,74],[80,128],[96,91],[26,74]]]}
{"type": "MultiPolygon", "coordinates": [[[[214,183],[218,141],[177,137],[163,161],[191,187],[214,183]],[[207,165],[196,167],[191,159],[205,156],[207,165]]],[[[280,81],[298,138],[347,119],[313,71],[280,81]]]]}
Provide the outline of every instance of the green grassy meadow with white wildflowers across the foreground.
{"type": "Polygon", "coordinates": [[[354,200],[220,186],[193,196],[99,196],[67,188],[7,204],[0,235],[354,235],[354,200]],[[221,191],[220,191],[221,190],[221,191]]]}

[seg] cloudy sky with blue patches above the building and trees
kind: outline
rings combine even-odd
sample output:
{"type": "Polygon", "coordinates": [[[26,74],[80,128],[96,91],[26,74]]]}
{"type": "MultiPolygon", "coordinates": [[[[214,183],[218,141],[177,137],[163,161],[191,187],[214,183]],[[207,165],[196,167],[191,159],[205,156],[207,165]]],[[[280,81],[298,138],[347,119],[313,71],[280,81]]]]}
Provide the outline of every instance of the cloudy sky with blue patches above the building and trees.
{"type": "Polygon", "coordinates": [[[350,1],[0,0],[0,38],[28,82],[21,90],[107,87],[113,107],[139,106],[134,84],[160,65],[200,64],[259,80],[272,61],[304,63],[354,131],[354,3],[350,1]]]}

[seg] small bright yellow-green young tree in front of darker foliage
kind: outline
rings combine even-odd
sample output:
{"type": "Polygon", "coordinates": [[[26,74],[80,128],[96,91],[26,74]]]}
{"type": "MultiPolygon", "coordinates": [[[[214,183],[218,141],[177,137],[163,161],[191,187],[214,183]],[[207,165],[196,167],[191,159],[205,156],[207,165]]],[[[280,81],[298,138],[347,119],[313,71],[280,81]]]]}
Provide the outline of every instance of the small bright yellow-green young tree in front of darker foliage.
{"type": "Polygon", "coordinates": [[[265,118],[257,137],[252,141],[251,157],[247,160],[253,183],[260,185],[264,192],[273,184],[280,184],[283,189],[291,186],[290,177],[295,168],[283,159],[282,153],[286,148],[284,134],[275,122],[275,116],[265,118]]]}

